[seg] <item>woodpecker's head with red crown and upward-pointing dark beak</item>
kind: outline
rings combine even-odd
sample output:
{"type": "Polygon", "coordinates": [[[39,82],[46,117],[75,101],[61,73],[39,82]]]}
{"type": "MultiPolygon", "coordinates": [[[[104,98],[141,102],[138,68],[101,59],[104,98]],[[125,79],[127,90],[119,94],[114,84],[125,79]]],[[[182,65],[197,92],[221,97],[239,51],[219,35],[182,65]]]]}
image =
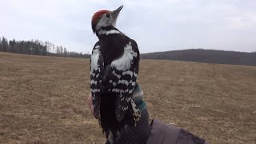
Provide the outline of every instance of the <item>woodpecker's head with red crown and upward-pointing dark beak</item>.
{"type": "Polygon", "coordinates": [[[94,33],[97,30],[100,30],[102,27],[106,26],[114,26],[116,25],[118,14],[122,10],[123,6],[118,7],[117,10],[110,11],[110,10],[99,10],[98,12],[94,13],[94,16],[91,20],[91,27],[94,33]]]}

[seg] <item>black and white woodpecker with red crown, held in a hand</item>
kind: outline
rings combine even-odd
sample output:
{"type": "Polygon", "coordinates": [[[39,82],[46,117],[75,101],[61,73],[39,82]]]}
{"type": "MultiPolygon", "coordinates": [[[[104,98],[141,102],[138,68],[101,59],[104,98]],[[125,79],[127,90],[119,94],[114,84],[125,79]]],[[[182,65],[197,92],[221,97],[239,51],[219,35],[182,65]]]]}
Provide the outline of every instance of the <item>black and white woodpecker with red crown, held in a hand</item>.
{"type": "Polygon", "coordinates": [[[140,54],[137,43],[116,28],[122,8],[99,10],[91,22],[98,42],[90,58],[90,90],[95,118],[109,143],[126,126],[136,126],[141,116],[132,99],[140,54]]]}

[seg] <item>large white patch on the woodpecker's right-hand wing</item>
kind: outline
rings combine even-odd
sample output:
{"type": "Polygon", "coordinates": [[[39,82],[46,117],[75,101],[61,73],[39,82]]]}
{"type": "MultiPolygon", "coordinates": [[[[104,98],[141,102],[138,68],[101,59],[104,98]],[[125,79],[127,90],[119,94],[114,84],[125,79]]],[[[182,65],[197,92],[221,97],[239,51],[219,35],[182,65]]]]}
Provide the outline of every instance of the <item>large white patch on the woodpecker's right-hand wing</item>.
{"type": "Polygon", "coordinates": [[[111,67],[115,67],[117,70],[126,71],[130,69],[132,60],[137,58],[138,54],[132,50],[131,42],[124,47],[124,52],[121,58],[118,58],[111,62],[111,67]]]}

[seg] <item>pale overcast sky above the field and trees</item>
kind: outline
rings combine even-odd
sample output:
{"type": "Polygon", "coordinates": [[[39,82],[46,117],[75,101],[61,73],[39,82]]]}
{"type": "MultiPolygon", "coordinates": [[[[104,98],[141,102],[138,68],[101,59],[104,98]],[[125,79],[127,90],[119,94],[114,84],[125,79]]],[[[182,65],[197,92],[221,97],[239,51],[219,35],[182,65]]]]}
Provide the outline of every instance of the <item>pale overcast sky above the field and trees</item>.
{"type": "Polygon", "coordinates": [[[0,36],[90,52],[94,12],[124,5],[117,28],[142,53],[204,48],[256,51],[256,0],[0,0],[0,36]]]}

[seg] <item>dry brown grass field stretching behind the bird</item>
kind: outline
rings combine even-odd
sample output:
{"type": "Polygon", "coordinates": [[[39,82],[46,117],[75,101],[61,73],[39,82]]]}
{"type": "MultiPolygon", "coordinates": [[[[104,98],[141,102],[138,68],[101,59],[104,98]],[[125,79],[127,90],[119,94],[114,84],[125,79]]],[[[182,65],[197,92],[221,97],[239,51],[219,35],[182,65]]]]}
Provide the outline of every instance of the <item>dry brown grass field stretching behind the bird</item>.
{"type": "MultiPolygon", "coordinates": [[[[89,59],[0,53],[0,143],[102,143],[89,59]]],[[[210,143],[256,143],[256,66],[142,60],[150,118],[210,143]]]]}

